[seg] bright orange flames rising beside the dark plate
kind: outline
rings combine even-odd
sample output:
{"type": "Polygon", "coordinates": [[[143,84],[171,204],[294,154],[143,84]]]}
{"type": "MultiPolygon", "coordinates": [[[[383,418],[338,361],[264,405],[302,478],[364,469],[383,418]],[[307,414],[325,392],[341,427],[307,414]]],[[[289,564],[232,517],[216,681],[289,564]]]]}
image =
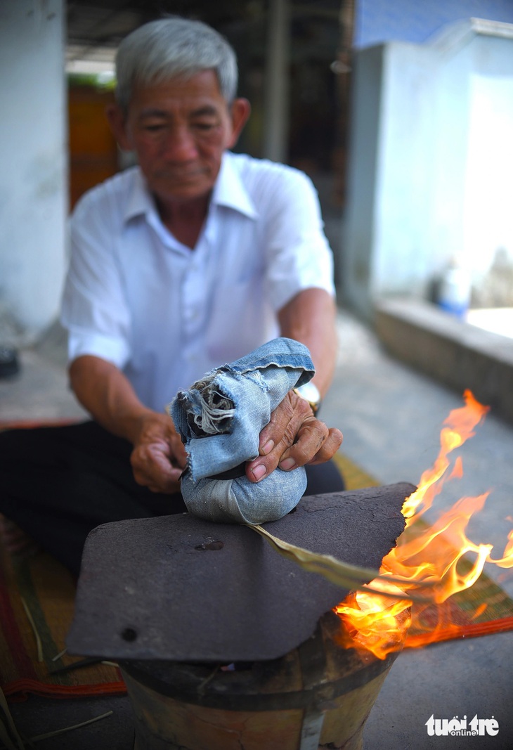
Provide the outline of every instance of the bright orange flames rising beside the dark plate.
{"type": "MultiPolygon", "coordinates": [[[[474,544],[466,536],[466,528],[473,514],[481,510],[488,493],[476,497],[463,497],[440,513],[434,523],[427,523],[425,513],[436,509],[445,481],[463,475],[460,457],[453,462],[449,455],[472,437],[474,428],[484,419],[488,407],[475,400],[472,393],[463,395],[465,406],[453,410],[444,422],[440,434],[440,453],[431,469],[422,474],[419,487],[404,501],[402,513],[406,528],[398,538],[397,546],[383,559],[382,576],[401,577],[405,580],[398,591],[397,584],[383,578],[369,585],[403,598],[371,594],[362,589],[351,593],[335,612],[344,620],[348,632],[347,647],[371,651],[378,658],[401,648],[405,627],[410,625],[406,646],[425,646],[460,634],[461,623],[452,597],[468,589],[481,576],[485,562],[502,568],[513,568],[513,530],[502,557],[492,559],[491,544],[474,544]],[[469,558],[468,555],[471,555],[469,558]],[[428,583],[422,589],[425,603],[409,601],[419,582],[428,583]],[[411,607],[411,622],[410,622],[411,607]]],[[[508,519],[513,520],[513,519],[508,519]]],[[[477,618],[487,604],[481,604],[473,613],[477,618]]],[[[472,618],[472,616],[470,616],[472,618]]]]}

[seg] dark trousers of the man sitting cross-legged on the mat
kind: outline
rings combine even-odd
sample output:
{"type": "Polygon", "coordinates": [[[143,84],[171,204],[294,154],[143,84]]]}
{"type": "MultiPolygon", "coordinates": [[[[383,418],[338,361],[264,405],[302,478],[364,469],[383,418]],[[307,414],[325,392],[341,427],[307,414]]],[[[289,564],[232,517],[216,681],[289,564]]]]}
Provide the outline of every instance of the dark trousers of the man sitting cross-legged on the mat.
{"type": "MultiPolygon", "coordinates": [[[[78,575],[95,526],[187,510],[136,483],[131,451],[96,422],[0,433],[0,512],[78,575]]],[[[306,469],[305,495],[344,490],[335,463],[306,469]]]]}

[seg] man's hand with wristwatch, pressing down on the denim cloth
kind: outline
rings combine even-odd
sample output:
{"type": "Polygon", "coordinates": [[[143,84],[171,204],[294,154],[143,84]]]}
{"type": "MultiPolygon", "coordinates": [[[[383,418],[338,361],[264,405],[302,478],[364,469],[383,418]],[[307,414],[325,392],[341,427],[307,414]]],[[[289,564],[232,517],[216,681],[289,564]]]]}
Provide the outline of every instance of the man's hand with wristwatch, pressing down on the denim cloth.
{"type": "Polygon", "coordinates": [[[246,476],[257,482],[277,466],[284,471],[305,463],[324,463],[342,443],[342,433],[316,419],[308,401],[294,391],[278,404],[260,433],[260,455],[246,465],[246,476]]]}

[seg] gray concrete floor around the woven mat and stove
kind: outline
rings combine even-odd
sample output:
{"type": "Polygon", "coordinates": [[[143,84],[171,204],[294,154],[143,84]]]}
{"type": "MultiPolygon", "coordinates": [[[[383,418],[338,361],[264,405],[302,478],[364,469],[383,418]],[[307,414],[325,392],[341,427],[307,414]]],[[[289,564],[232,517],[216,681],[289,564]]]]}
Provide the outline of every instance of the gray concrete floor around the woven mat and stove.
{"type": "MultiPolygon", "coordinates": [[[[383,484],[418,484],[440,446],[440,428],[460,394],[410,371],[386,356],[374,335],[345,312],[339,317],[340,353],[335,382],[321,416],[344,432],[344,453],[383,484]]],[[[66,385],[62,341],[50,337],[37,351],[24,351],[18,377],[0,380],[1,419],[55,419],[80,416],[66,385]]],[[[487,416],[460,455],[464,478],[444,491],[440,505],[463,495],[490,491],[487,504],[469,526],[475,542],[502,553],[511,529],[513,427],[487,416]],[[456,494],[455,494],[456,493],[456,494]],[[509,517],[509,521],[505,518],[509,517]]],[[[487,566],[513,596],[513,571],[487,566]]],[[[398,656],[368,718],[364,750],[428,748],[513,748],[513,632],[450,641],[398,656]],[[496,736],[428,736],[431,717],[470,721],[494,717],[496,736]]],[[[26,736],[84,721],[112,709],[113,715],[37,747],[48,750],[130,750],[133,730],[127,698],[44,700],[31,697],[11,710],[26,736]]]]}

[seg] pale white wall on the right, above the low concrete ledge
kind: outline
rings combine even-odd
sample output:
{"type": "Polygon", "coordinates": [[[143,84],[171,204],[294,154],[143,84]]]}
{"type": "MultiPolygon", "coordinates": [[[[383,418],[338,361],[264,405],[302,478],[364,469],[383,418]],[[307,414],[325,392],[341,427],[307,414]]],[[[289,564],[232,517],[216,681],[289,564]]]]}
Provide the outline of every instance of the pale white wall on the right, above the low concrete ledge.
{"type": "Polygon", "coordinates": [[[513,26],[472,23],[356,54],[339,286],[365,317],[455,256],[473,278],[513,257],[513,26]]]}

